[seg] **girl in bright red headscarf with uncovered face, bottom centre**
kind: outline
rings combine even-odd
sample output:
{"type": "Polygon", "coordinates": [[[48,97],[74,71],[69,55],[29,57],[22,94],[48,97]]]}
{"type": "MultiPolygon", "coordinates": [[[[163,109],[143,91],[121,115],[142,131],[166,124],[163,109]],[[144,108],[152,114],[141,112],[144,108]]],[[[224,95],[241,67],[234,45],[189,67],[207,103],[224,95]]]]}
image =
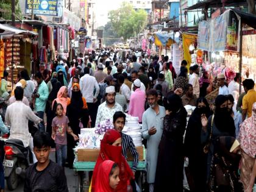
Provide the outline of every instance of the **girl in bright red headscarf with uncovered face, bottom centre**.
{"type": "Polygon", "coordinates": [[[95,181],[96,192],[113,192],[119,182],[119,167],[117,163],[105,160],[99,165],[98,176],[95,181]]]}

